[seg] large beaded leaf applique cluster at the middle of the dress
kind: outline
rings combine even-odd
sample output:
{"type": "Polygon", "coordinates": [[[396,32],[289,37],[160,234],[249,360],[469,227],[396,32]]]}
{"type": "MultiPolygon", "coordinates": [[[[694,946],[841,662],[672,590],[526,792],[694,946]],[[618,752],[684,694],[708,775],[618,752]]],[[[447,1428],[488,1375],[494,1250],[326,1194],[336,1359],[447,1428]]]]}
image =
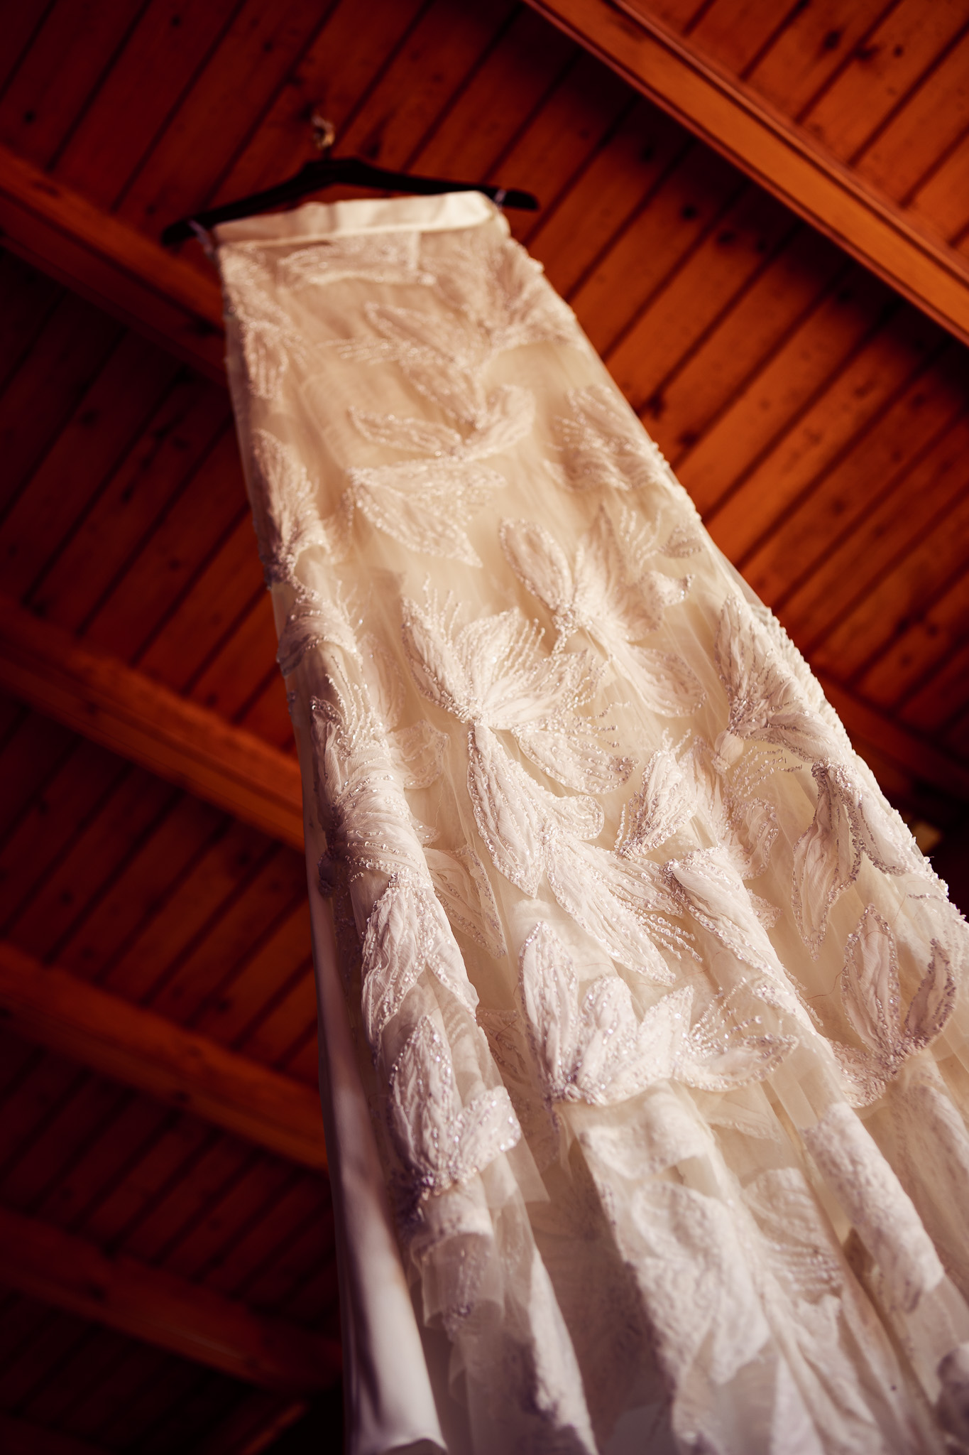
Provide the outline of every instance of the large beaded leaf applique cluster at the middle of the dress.
{"type": "Polygon", "coordinates": [[[606,790],[622,783],[629,760],[597,742],[597,728],[575,714],[591,695],[585,655],[540,656],[539,634],[507,611],[461,630],[436,604],[404,605],[404,652],[418,690],[462,722],[468,735],[468,793],[495,869],[535,895],[543,874],[562,908],[610,956],[668,984],[657,943],[677,954],[689,937],[668,922],[678,912],[662,872],[641,857],[588,844],[603,828],[590,797],[558,797],[504,749],[511,732],[524,752],[567,787],[606,790]]]}

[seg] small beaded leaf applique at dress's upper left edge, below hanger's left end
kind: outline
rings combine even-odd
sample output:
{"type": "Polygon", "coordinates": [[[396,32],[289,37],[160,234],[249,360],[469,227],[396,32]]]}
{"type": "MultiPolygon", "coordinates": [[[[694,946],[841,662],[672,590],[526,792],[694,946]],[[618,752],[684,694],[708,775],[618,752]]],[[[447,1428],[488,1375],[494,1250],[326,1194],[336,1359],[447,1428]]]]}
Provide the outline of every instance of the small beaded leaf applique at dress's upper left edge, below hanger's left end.
{"type": "Polygon", "coordinates": [[[276,303],[273,276],[256,244],[221,247],[219,269],[238,323],[248,386],[257,399],[276,402],[291,362],[309,358],[305,336],[276,303]]]}

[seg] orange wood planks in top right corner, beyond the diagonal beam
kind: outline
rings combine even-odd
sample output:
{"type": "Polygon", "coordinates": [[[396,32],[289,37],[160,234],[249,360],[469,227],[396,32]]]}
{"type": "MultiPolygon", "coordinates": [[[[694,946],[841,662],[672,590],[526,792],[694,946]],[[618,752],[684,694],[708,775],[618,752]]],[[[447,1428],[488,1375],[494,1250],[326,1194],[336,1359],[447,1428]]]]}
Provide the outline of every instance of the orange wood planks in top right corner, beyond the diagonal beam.
{"type": "Polygon", "coordinates": [[[633,0],[825,153],[963,247],[969,0],[633,0]]]}

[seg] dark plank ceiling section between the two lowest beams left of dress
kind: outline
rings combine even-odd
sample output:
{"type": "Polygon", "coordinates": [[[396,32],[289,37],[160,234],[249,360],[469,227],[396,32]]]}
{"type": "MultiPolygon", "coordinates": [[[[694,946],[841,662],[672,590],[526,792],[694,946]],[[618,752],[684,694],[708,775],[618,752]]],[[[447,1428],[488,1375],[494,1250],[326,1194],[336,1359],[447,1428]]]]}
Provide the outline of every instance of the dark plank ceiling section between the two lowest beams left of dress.
{"type": "MultiPolygon", "coordinates": [[[[183,1113],[49,1053],[1,1104],[6,1208],[270,1314],[331,1259],[324,1181],[183,1113]]],[[[324,1295],[302,1321],[330,1323],[324,1295]]]]}

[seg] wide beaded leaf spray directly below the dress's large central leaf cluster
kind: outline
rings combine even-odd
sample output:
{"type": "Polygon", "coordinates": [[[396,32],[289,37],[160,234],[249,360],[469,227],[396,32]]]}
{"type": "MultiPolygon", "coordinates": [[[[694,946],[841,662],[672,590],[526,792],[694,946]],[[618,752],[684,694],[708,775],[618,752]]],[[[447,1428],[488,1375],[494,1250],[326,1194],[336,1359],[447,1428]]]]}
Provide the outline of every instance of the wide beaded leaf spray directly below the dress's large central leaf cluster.
{"type": "Polygon", "coordinates": [[[580,1002],[572,960],[545,921],[524,941],[519,972],[551,1101],[609,1106],[668,1080],[725,1091],[761,1081],[796,1046],[787,1036],[744,1036],[716,1004],[690,1027],[690,986],[664,995],[641,1021],[619,976],[593,981],[580,1002]]]}

